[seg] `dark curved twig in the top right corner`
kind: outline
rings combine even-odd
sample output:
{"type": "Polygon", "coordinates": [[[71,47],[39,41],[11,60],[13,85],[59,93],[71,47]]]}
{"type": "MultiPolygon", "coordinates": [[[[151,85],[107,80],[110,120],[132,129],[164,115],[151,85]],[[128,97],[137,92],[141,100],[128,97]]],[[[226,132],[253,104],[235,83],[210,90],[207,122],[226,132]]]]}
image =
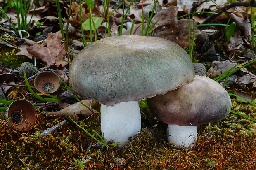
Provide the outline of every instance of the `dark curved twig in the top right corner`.
{"type": "MultiPolygon", "coordinates": [[[[251,0],[249,2],[233,2],[229,5],[225,5],[224,7],[220,8],[217,13],[218,14],[212,14],[210,16],[208,16],[201,24],[206,24],[209,23],[211,20],[215,19],[217,16],[219,16],[220,14],[222,14],[223,12],[227,11],[228,9],[232,8],[232,7],[256,7],[256,2],[254,0],[251,0]]],[[[199,29],[200,26],[197,26],[197,28],[199,29]]]]}

